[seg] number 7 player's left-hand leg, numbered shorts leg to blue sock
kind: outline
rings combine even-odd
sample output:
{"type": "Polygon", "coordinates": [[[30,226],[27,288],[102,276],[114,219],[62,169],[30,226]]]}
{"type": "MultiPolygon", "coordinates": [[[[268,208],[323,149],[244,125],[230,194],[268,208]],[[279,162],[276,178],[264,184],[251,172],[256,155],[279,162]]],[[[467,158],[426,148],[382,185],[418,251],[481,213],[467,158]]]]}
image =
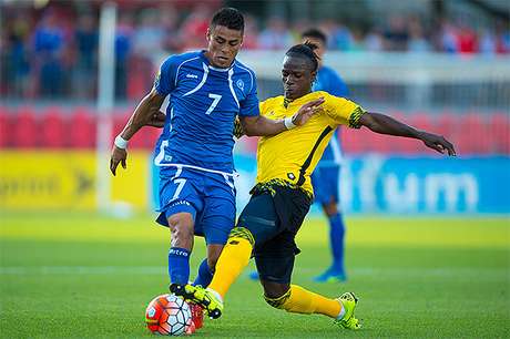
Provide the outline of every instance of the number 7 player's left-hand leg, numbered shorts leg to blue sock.
{"type": "Polygon", "coordinates": [[[171,290],[190,279],[190,254],[193,249],[194,220],[202,208],[195,191],[195,177],[182,168],[164,168],[160,173],[160,210],[157,223],[171,232],[169,276],[171,290]]]}

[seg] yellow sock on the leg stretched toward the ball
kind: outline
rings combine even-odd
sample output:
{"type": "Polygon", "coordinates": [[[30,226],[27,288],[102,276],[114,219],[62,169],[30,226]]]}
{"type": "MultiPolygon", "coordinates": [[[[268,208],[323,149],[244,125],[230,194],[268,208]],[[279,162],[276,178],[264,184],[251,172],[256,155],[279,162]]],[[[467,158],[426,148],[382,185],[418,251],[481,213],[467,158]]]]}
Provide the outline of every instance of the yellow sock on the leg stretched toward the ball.
{"type": "Polygon", "coordinates": [[[253,244],[252,233],[247,228],[234,227],[216,263],[208,288],[214,289],[224,298],[231,285],[248,265],[253,244]]]}

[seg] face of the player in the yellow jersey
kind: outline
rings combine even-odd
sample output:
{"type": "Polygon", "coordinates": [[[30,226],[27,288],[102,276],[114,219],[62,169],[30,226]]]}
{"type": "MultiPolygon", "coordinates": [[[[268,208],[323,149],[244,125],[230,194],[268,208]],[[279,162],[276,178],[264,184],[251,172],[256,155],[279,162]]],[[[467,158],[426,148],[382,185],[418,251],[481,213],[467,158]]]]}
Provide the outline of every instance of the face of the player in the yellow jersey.
{"type": "Polygon", "coordinates": [[[316,75],[312,70],[312,62],[306,56],[285,56],[282,69],[285,97],[294,100],[312,91],[312,83],[316,75]]]}

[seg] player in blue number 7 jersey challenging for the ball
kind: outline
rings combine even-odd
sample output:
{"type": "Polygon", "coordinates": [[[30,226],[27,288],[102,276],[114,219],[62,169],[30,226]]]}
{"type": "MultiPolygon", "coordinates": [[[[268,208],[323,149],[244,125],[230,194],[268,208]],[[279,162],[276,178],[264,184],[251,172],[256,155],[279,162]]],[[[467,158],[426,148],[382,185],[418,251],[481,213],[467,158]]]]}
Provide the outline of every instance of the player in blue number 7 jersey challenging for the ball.
{"type": "Polygon", "coordinates": [[[113,175],[119,164],[126,167],[128,141],[143,125],[157,125],[164,117],[154,158],[161,166],[157,222],[171,229],[170,288],[176,294],[188,282],[193,235],[203,235],[207,244],[207,258],[195,280],[205,287],[234,226],[235,117],[249,135],[275,135],[304,124],[314,112],[315,103],[309,103],[285,120],[259,115],[255,74],[235,59],[243,33],[241,12],[218,10],[206,33],[207,49],[167,58],[154,88],[115,137],[110,162],[113,175]],[[166,114],[160,114],[167,95],[166,114]]]}

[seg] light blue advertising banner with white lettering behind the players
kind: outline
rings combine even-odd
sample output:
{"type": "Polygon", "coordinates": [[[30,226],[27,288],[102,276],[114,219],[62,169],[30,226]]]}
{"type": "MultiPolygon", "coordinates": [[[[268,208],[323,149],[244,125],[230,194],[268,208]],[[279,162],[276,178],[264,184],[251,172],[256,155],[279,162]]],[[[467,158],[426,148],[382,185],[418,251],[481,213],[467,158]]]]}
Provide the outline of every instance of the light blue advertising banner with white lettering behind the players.
{"type": "MultiPolygon", "coordinates": [[[[249,199],[256,160],[236,155],[237,208],[249,199]]],[[[348,213],[510,214],[510,157],[345,157],[340,204],[348,213]]],[[[154,198],[157,172],[154,171],[154,198]]],[[[319,213],[313,208],[312,213],[319,213]]]]}

